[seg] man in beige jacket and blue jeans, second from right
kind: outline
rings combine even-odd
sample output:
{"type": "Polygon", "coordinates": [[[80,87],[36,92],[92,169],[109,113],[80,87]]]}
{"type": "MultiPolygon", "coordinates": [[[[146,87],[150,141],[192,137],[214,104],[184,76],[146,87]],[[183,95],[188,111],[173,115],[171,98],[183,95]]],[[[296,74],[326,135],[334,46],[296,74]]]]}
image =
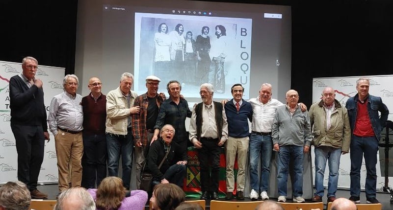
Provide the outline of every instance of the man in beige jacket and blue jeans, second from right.
{"type": "Polygon", "coordinates": [[[322,100],[315,102],[309,111],[315,147],[314,202],[322,202],[326,161],[329,161],[328,202],[336,200],[340,157],[349,152],[351,129],[348,112],[335,96],[333,88],[326,87],[322,92],[322,100]]]}

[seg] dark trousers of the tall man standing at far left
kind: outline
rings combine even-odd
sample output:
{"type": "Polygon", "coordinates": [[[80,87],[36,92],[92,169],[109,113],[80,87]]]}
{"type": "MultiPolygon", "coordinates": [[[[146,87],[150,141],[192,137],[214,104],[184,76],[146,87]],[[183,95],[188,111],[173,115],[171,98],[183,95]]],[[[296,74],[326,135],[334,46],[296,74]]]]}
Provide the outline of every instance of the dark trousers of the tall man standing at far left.
{"type": "Polygon", "coordinates": [[[18,180],[32,191],[37,188],[38,175],[44,160],[45,137],[42,126],[16,125],[11,122],[18,152],[18,180]]]}

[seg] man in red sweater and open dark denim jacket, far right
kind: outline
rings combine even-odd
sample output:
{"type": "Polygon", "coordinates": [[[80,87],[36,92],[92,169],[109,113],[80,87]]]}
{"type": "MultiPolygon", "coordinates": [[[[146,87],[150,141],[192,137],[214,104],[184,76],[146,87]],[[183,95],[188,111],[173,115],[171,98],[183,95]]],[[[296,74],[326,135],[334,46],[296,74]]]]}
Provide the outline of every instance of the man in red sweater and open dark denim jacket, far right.
{"type": "Polygon", "coordinates": [[[367,78],[359,78],[356,81],[358,93],[346,101],[345,108],[348,110],[349,123],[351,126],[351,197],[349,200],[360,203],[360,169],[362,156],[365,158],[366,198],[367,203],[379,203],[376,197],[378,141],[381,138],[381,130],[385,127],[388,119],[388,107],[377,96],[368,94],[370,81],[367,78]],[[379,116],[379,113],[381,116],[379,116]]]}

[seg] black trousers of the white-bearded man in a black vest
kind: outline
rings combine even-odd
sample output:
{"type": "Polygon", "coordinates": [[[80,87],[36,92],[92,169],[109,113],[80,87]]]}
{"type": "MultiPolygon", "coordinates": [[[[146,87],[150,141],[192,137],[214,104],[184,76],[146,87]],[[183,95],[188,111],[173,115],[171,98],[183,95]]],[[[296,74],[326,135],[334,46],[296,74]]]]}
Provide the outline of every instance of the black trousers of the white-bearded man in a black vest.
{"type": "Polygon", "coordinates": [[[201,138],[202,148],[198,149],[198,158],[201,172],[201,190],[217,192],[220,172],[220,147],[218,139],[208,140],[201,138]],[[211,169],[209,172],[209,163],[211,169]]]}

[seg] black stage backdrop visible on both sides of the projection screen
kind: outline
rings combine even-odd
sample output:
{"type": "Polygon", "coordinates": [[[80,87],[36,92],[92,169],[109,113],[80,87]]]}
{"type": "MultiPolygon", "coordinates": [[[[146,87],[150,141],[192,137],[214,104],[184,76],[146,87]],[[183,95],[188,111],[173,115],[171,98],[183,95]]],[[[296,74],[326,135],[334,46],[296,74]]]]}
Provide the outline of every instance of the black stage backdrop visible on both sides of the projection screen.
{"type": "MultiPolygon", "coordinates": [[[[393,74],[392,0],[210,1],[292,6],[291,88],[308,107],[313,77],[393,74]]],[[[0,0],[0,60],[33,56],[74,73],[77,6],[78,0],[0,0]]]]}

